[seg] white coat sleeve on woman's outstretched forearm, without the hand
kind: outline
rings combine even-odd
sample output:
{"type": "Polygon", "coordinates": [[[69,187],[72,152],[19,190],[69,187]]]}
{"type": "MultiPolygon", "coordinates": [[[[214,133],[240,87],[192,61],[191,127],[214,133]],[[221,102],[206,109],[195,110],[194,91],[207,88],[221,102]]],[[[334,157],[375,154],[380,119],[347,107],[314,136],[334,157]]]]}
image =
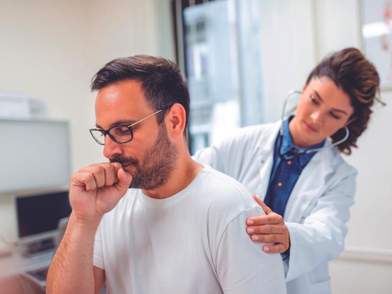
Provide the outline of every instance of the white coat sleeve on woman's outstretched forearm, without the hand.
{"type": "Polygon", "coordinates": [[[344,178],[321,196],[303,223],[286,222],[291,240],[286,281],[342,253],[349,209],[354,204],[355,176],[344,178]]]}

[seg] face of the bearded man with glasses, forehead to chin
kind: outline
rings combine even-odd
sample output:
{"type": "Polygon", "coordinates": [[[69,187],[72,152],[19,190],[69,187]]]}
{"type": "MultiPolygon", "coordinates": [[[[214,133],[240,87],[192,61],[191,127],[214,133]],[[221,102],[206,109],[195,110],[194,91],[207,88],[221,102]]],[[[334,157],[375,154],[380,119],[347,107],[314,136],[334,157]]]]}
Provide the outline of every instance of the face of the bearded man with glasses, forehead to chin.
{"type": "MultiPolygon", "coordinates": [[[[96,125],[108,129],[132,124],[154,113],[136,81],[123,81],[99,90],[95,104],[96,125]]],[[[120,162],[132,175],[129,188],[151,190],[165,184],[175,168],[177,149],[170,142],[165,122],[158,125],[155,116],[136,124],[133,140],[119,144],[105,137],[103,155],[120,162]]]]}

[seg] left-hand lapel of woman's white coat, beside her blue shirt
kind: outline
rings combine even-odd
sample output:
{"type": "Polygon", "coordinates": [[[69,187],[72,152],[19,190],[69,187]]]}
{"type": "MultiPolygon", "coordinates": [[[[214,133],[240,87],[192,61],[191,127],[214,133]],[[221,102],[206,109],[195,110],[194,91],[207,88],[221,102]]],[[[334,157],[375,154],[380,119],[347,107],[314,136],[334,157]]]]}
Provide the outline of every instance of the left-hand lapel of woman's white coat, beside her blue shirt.
{"type": "Polygon", "coordinates": [[[263,140],[262,142],[260,142],[259,160],[261,163],[261,168],[259,171],[259,175],[261,184],[259,195],[257,196],[263,201],[266,197],[268,184],[270,182],[270,174],[273,164],[273,150],[275,147],[275,141],[278,136],[280,126],[280,121],[272,124],[270,129],[266,131],[267,134],[266,136],[264,136],[264,138],[266,138],[265,141],[263,140]]]}

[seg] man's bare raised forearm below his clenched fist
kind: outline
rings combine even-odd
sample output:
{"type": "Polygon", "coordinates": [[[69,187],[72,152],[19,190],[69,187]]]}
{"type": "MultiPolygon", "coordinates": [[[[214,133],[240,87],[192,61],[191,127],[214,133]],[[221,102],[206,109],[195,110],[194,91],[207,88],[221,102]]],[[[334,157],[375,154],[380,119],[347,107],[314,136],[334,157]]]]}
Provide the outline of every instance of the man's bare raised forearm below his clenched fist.
{"type": "Polygon", "coordinates": [[[49,267],[48,294],[93,294],[93,247],[99,220],[70,216],[67,229],[49,267]]]}

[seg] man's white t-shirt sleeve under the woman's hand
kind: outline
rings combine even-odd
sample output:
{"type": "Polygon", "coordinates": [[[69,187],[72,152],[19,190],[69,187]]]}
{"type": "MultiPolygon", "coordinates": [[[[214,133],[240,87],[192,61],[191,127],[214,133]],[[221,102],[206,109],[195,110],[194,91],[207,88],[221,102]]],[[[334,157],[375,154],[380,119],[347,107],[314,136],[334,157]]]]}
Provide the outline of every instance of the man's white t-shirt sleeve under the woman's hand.
{"type": "Polygon", "coordinates": [[[265,244],[252,242],[246,234],[246,219],[261,214],[259,207],[246,209],[222,235],[215,267],[225,294],[286,293],[280,254],[265,253],[265,244]]]}

